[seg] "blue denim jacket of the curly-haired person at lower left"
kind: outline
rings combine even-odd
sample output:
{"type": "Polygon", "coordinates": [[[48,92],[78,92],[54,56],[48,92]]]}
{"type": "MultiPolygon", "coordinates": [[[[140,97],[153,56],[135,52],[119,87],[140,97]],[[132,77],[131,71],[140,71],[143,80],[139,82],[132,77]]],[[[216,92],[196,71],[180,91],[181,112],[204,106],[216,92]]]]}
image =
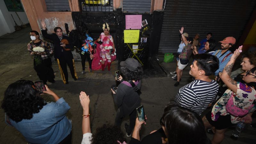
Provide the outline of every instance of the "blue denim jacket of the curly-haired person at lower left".
{"type": "Polygon", "coordinates": [[[58,144],[71,132],[71,123],[66,117],[69,109],[68,103],[60,98],[46,104],[31,119],[23,119],[18,123],[12,119],[10,121],[29,143],[58,144]]]}

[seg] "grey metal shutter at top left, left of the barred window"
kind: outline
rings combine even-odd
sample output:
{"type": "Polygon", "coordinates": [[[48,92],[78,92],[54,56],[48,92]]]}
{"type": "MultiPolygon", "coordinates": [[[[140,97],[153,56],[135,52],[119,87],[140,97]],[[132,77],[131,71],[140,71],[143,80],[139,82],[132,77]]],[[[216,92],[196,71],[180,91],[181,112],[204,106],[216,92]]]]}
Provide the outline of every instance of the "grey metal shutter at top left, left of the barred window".
{"type": "Polygon", "coordinates": [[[47,11],[70,11],[68,0],[45,0],[47,11]]]}

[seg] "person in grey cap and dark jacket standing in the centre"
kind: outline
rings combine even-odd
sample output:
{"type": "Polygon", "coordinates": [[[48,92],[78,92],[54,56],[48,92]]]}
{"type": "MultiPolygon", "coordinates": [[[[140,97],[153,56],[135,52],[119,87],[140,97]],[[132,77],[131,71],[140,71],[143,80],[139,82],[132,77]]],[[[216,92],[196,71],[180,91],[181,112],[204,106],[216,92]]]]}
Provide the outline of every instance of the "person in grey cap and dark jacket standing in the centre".
{"type": "Polygon", "coordinates": [[[130,124],[124,124],[126,136],[130,137],[136,120],[136,108],[140,106],[140,95],[137,91],[140,89],[143,70],[138,60],[128,58],[120,62],[120,74],[117,79],[121,84],[117,87],[117,92],[113,89],[113,98],[118,110],[115,118],[115,125],[121,126],[122,119],[125,116],[130,117],[130,124]],[[135,86],[132,86],[134,84],[135,86]]]}

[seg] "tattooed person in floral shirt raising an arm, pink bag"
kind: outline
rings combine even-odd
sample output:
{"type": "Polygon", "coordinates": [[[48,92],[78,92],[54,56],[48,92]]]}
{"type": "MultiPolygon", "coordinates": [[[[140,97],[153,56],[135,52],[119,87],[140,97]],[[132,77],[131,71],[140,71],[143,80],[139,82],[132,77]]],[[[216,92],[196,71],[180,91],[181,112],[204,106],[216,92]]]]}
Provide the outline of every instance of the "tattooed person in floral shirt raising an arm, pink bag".
{"type": "Polygon", "coordinates": [[[228,86],[228,90],[215,103],[212,110],[204,117],[203,122],[206,128],[215,127],[212,144],[219,144],[224,139],[225,131],[228,127],[240,121],[244,123],[252,122],[252,113],[256,109],[256,68],[252,68],[243,76],[246,84],[236,82],[230,77],[232,67],[236,58],[242,52],[240,46],[231,56],[230,61],[225,66],[220,76],[221,80],[228,86]]]}

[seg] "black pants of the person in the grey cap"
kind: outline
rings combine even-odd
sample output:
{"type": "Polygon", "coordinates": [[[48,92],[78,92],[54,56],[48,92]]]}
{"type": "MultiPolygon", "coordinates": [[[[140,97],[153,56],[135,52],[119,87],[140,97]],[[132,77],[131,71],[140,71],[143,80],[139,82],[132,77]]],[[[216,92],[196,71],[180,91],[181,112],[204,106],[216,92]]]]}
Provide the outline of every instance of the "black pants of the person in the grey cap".
{"type": "MultiPolygon", "coordinates": [[[[119,109],[117,110],[117,113],[116,113],[116,119],[115,119],[115,125],[120,127],[121,124],[122,124],[122,119],[124,117],[120,117],[120,116],[123,116],[124,114],[121,114],[119,109]]],[[[132,111],[131,114],[129,114],[129,117],[130,117],[130,124],[129,124],[129,128],[127,129],[127,133],[130,134],[132,133],[132,130],[135,126],[135,121],[136,121],[136,116],[137,116],[137,113],[136,113],[136,109],[134,109],[132,111]]]]}

